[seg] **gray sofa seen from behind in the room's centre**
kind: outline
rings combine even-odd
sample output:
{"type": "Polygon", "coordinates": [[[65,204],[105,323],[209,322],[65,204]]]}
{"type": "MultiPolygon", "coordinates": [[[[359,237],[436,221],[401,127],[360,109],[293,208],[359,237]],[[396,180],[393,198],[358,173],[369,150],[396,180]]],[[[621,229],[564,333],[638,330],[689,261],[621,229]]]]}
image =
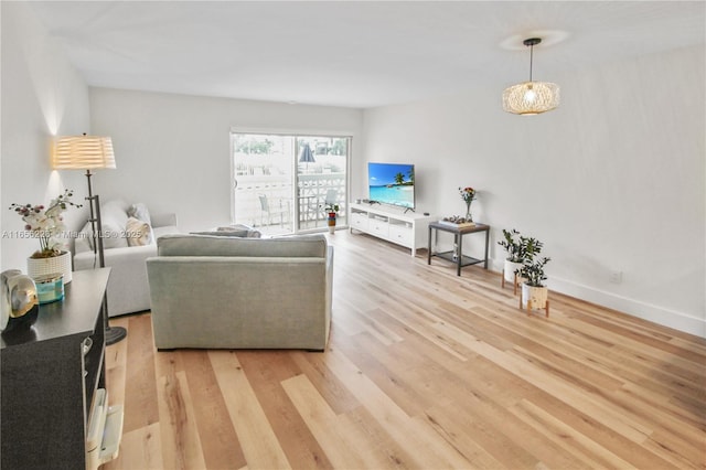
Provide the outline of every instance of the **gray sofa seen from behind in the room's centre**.
{"type": "Polygon", "coordinates": [[[325,236],[165,235],[157,247],[147,273],[158,349],[325,349],[333,291],[325,236]]]}

